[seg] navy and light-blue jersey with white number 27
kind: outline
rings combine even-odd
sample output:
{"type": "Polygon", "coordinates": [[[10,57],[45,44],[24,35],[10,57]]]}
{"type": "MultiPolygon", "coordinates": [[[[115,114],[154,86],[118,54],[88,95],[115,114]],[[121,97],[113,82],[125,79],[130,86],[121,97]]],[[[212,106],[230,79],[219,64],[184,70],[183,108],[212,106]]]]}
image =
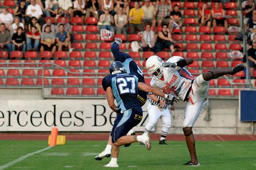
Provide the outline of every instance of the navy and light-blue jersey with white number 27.
{"type": "Polygon", "coordinates": [[[138,83],[142,82],[137,74],[112,74],[105,76],[102,80],[102,87],[111,87],[118,107],[122,111],[133,109],[142,113],[141,103],[138,100],[138,83]]]}

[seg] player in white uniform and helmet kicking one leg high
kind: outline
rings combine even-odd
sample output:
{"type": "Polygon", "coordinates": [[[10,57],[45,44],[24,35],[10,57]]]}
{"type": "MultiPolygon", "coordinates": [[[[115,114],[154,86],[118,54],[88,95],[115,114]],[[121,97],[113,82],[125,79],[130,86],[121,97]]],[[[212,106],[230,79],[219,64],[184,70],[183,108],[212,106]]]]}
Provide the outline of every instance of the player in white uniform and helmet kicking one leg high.
{"type": "Polygon", "coordinates": [[[158,56],[151,56],[146,61],[148,74],[152,77],[151,86],[157,87],[166,92],[174,92],[176,96],[186,101],[183,132],[187,142],[187,147],[191,160],[184,165],[199,166],[196,156],[195,137],[192,127],[200,114],[204,99],[209,89],[209,81],[226,74],[236,74],[245,69],[243,64],[239,64],[229,70],[210,70],[197,77],[193,76],[184,66],[193,63],[192,58],[179,56],[171,57],[167,62],[163,62],[158,56]]]}

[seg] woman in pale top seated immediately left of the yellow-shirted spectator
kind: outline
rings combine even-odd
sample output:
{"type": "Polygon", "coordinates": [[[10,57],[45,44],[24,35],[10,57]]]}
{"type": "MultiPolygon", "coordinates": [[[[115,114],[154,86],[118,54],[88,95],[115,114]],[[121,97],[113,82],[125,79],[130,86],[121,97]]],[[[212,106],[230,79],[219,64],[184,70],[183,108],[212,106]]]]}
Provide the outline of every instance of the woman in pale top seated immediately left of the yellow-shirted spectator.
{"type": "Polygon", "coordinates": [[[123,8],[119,7],[117,14],[114,16],[115,33],[123,33],[126,35],[126,24],[128,22],[127,15],[123,14],[123,8]]]}

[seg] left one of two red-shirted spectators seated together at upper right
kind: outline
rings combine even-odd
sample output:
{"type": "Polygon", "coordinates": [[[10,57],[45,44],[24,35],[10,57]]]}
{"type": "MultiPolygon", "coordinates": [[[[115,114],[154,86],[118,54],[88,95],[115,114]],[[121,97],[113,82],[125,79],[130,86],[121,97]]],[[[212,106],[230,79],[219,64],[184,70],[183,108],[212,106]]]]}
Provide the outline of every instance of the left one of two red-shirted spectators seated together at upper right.
{"type": "Polygon", "coordinates": [[[210,10],[207,7],[207,3],[204,3],[203,7],[199,10],[199,20],[200,26],[210,27],[210,10]]]}

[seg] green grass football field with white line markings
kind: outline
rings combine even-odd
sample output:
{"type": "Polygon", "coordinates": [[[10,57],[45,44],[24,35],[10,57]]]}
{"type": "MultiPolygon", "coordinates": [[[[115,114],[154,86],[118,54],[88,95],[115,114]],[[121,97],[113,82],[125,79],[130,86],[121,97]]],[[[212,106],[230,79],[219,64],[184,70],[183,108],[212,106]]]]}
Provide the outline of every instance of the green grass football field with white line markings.
{"type": "MultiPolygon", "coordinates": [[[[153,141],[150,151],[138,143],[121,147],[119,169],[256,169],[256,141],[197,142],[200,167],[181,165],[189,160],[185,142],[168,143],[153,141]]],[[[0,141],[0,169],[108,169],[103,165],[110,158],[94,160],[105,144],[67,141],[67,145],[46,148],[46,141],[0,141]]]]}

